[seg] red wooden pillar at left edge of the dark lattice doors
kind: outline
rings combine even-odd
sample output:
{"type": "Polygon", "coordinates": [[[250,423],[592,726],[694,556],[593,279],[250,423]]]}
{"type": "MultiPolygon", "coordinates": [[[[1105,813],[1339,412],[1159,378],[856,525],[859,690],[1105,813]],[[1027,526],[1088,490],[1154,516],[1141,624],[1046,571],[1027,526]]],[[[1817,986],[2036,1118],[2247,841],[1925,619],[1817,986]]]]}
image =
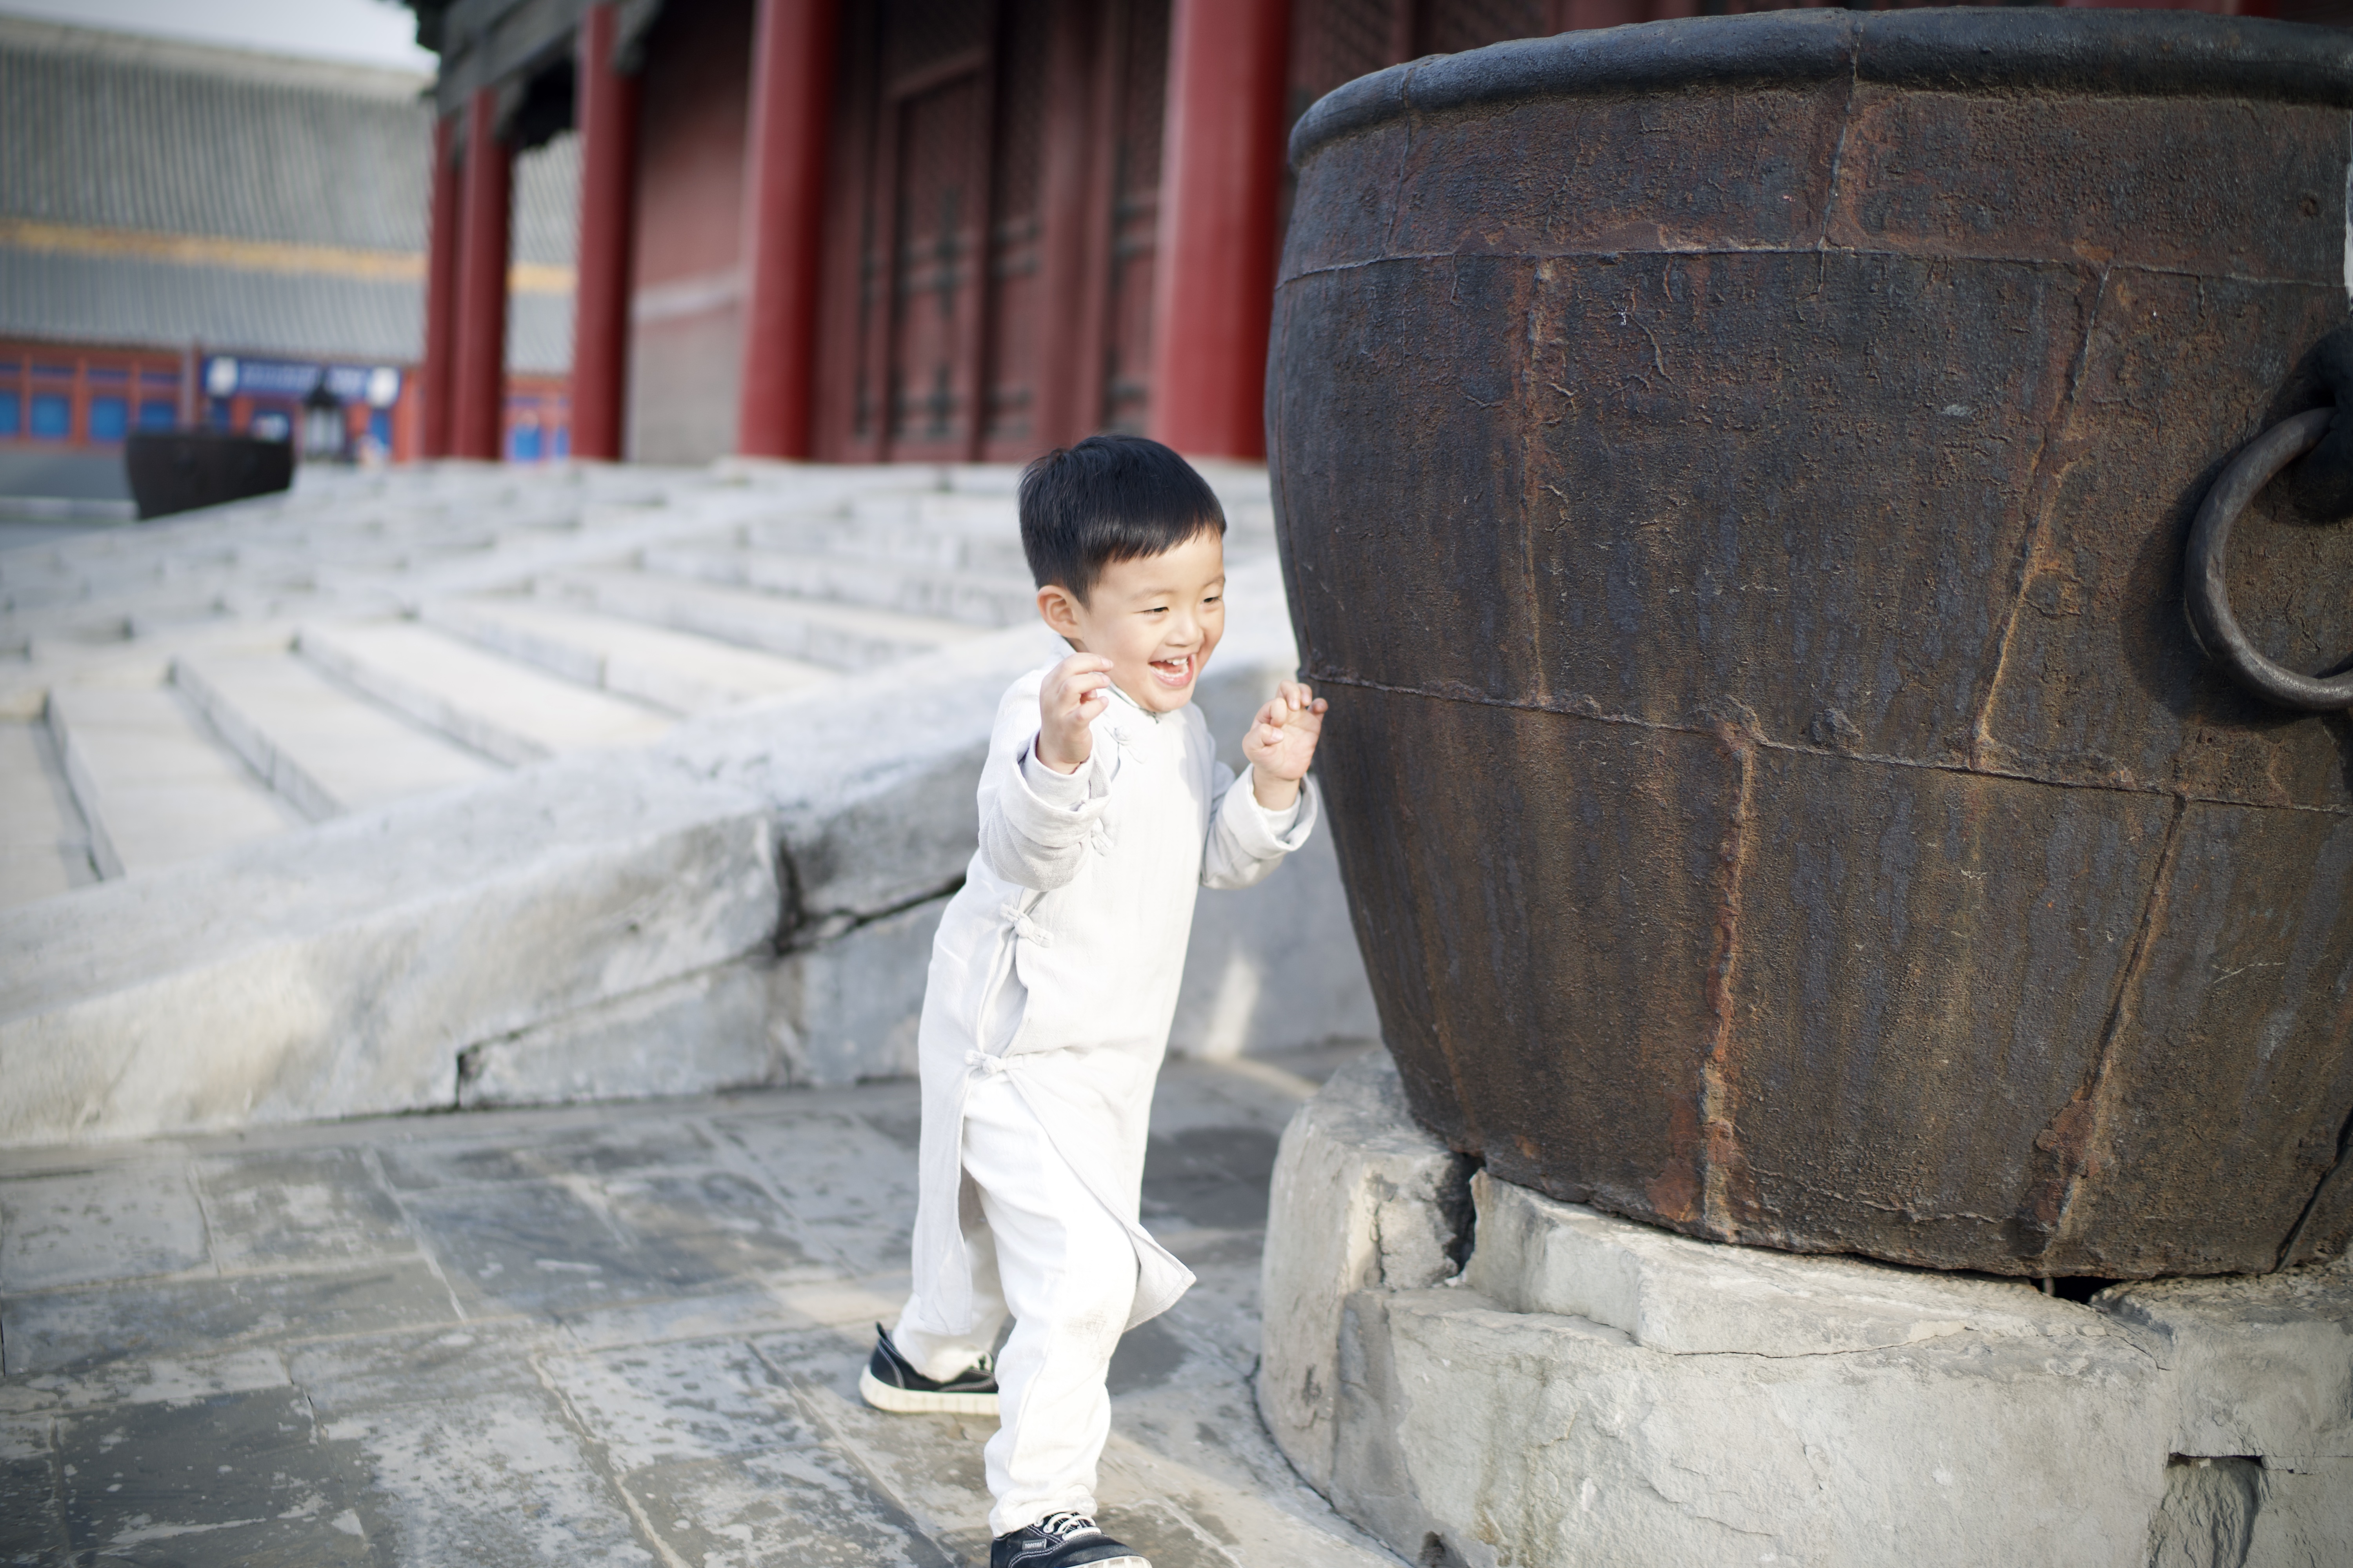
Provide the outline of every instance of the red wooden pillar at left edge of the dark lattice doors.
{"type": "Polygon", "coordinates": [[[840,0],[760,0],[744,176],[744,395],[736,451],[809,456],[826,122],[840,0]]]}

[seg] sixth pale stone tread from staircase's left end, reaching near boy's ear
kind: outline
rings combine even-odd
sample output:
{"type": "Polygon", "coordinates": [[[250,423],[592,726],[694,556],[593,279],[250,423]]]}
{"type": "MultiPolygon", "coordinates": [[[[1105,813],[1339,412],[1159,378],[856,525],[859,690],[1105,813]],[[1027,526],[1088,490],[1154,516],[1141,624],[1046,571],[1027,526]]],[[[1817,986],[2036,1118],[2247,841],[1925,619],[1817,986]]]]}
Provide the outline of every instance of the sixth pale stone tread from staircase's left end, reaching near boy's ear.
{"type": "Polygon", "coordinates": [[[689,583],[612,567],[553,574],[541,578],[541,592],[609,616],[807,658],[835,670],[864,670],[986,635],[955,621],[824,599],[786,599],[753,588],[689,583]]]}

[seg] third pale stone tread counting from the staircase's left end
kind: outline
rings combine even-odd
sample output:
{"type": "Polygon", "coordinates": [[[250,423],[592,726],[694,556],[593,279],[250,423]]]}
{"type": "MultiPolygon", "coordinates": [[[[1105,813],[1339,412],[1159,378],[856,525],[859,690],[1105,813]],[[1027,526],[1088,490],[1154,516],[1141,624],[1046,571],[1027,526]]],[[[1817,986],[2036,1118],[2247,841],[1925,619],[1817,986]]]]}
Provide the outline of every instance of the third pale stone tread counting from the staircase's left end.
{"type": "Polygon", "coordinates": [[[181,654],[172,682],[311,818],[499,773],[480,755],[339,686],[292,649],[181,654]]]}

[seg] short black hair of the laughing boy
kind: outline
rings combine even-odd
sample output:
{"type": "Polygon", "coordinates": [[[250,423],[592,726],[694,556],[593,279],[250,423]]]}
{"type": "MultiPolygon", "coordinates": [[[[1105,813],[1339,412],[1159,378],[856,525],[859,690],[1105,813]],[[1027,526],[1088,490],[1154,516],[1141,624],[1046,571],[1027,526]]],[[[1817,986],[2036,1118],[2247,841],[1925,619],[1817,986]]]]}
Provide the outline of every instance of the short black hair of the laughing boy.
{"type": "Polygon", "coordinates": [[[1141,435],[1089,435],[1021,470],[1021,552],[1040,588],[1085,604],[1104,567],[1226,531],[1226,508],[1193,465],[1141,435]]]}

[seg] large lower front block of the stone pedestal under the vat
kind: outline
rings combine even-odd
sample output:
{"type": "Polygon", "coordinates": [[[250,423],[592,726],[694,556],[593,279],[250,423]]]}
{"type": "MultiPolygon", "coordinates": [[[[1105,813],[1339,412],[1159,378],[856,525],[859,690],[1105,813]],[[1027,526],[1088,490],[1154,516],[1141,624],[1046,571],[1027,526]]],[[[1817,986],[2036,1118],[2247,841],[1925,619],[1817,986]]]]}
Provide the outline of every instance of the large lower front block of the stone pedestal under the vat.
{"type": "Polygon", "coordinates": [[[1409,1495],[1478,1568],[2144,1563],[2165,1389],[2122,1335],[1668,1354],[1468,1291],[1379,1321],[1409,1495]]]}

